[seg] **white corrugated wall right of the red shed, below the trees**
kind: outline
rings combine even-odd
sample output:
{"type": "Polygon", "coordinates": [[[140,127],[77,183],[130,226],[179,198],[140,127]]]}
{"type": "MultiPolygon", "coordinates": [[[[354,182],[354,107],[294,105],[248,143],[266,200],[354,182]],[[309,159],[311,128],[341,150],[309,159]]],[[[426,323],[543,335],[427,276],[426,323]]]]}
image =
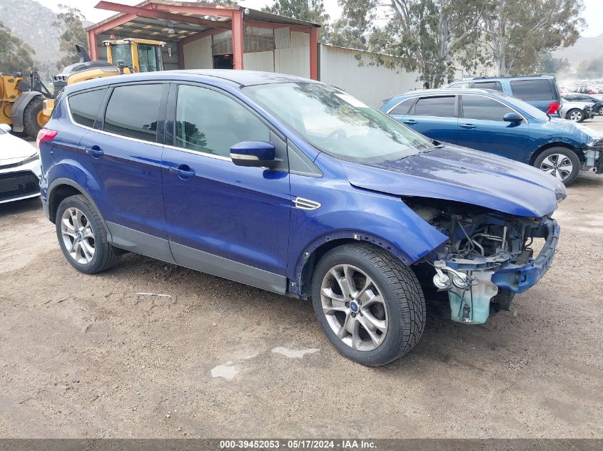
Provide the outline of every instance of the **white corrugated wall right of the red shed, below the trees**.
{"type": "Polygon", "coordinates": [[[422,87],[422,83],[418,81],[418,73],[406,72],[403,69],[398,72],[385,66],[370,66],[373,61],[370,55],[370,52],[321,45],[320,81],[335,85],[377,108],[380,108],[382,100],[390,95],[422,87]],[[358,66],[357,55],[364,62],[364,66],[358,66]]]}

